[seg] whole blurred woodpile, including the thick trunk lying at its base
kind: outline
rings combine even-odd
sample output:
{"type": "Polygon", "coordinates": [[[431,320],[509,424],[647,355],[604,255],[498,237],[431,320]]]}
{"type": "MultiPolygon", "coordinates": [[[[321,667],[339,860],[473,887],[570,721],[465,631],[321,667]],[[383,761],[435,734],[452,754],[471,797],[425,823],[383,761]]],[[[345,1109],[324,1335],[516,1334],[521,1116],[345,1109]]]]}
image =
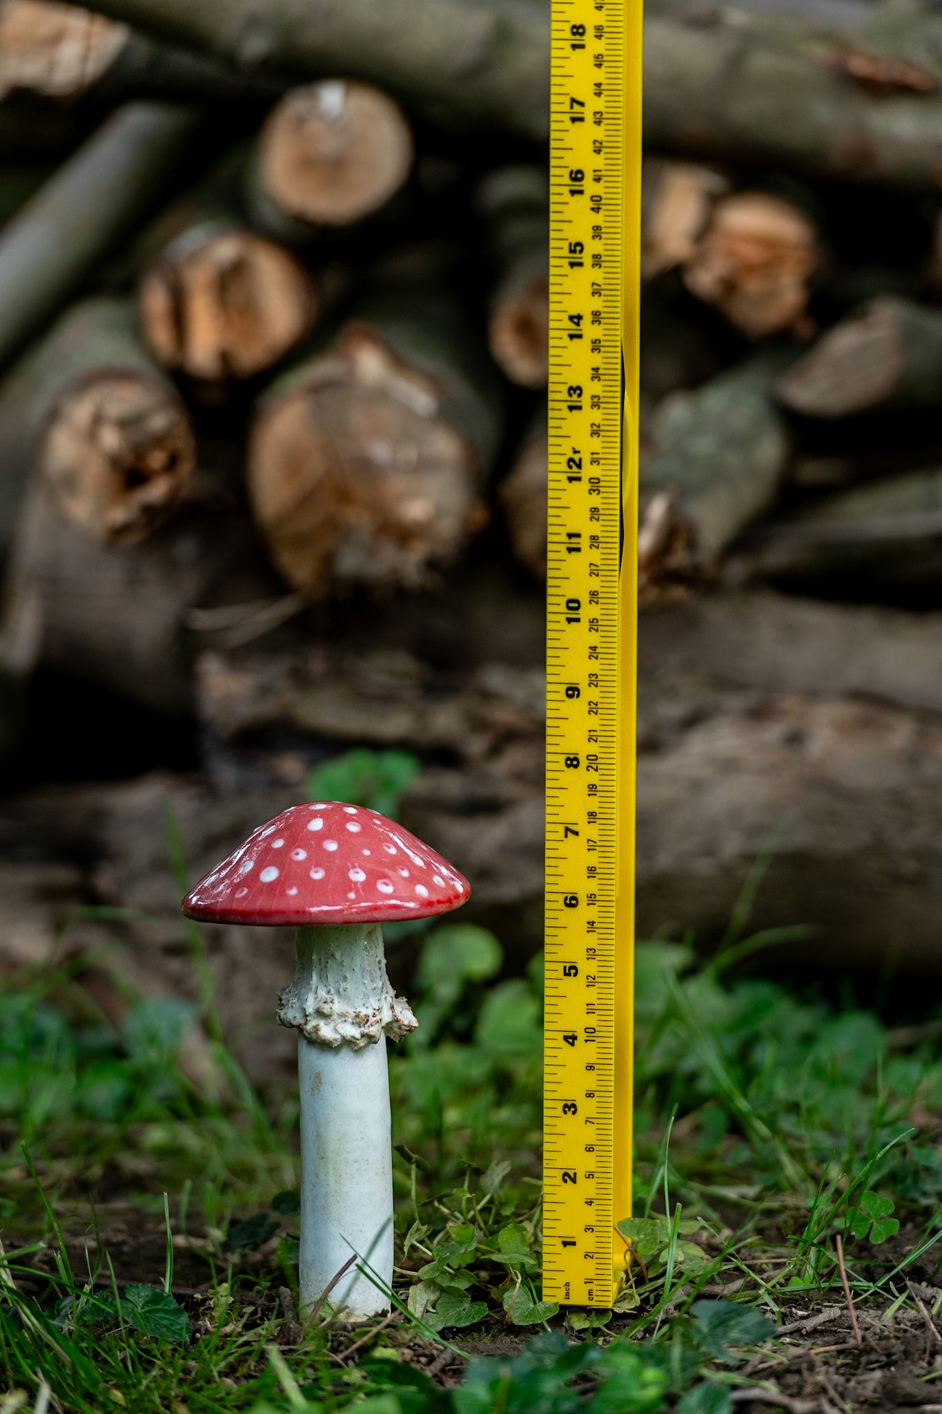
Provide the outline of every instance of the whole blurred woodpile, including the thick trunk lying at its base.
{"type": "MultiPolygon", "coordinates": [[[[775,837],[765,922],[878,960],[902,919],[922,964],[942,18],[825,8],[645,21],[641,919],[716,932],[775,837]]],[[[247,793],[408,749],[410,823],[476,916],[537,945],[547,137],[541,0],[362,0],[356,23],[342,0],[0,0],[14,779],[48,779],[24,704],[65,741],[127,713],[198,867],[216,806],[234,839],[247,793]]],[[[96,751],[72,779],[120,773],[96,751]]],[[[153,860],[109,872],[126,827],[76,888],[144,909],[153,860]]],[[[44,868],[86,870],[71,848],[44,868]]]]}

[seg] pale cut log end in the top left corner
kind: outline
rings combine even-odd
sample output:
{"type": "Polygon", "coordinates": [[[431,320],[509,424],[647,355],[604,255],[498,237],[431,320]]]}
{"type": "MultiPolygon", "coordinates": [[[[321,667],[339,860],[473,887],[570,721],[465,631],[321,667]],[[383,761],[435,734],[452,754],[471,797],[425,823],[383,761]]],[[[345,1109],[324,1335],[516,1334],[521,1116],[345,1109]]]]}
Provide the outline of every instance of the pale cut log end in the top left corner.
{"type": "Polygon", "coordinates": [[[0,8],[0,98],[16,89],[78,98],[112,66],[130,30],[79,6],[6,0],[0,8]]]}

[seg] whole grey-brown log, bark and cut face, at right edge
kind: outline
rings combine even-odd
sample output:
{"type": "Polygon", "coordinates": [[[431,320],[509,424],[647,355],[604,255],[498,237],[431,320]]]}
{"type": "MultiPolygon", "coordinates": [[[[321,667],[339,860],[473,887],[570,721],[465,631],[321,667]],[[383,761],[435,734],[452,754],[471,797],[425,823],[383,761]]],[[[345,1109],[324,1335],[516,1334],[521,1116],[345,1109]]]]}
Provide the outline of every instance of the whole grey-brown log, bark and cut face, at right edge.
{"type": "Polygon", "coordinates": [[[842,320],[777,382],[806,417],[935,407],[942,396],[942,314],[884,294],[842,320]]]}

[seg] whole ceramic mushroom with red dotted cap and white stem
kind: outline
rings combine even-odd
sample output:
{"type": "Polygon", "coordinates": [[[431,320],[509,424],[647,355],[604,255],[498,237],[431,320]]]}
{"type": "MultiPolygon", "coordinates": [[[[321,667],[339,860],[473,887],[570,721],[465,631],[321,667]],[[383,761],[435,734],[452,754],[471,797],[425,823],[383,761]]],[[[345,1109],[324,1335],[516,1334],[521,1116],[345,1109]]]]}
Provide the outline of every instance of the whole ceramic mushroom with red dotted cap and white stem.
{"type": "Polygon", "coordinates": [[[302,1314],[354,1253],[378,1285],[354,1264],[330,1291],[332,1307],[350,1322],[388,1311],[386,1038],[417,1022],[386,974],[381,925],[446,913],[469,894],[451,864],[393,820],[319,802],[260,826],[184,899],[199,922],[297,926],[297,971],[278,994],[278,1021],[298,1028],[302,1314]]]}

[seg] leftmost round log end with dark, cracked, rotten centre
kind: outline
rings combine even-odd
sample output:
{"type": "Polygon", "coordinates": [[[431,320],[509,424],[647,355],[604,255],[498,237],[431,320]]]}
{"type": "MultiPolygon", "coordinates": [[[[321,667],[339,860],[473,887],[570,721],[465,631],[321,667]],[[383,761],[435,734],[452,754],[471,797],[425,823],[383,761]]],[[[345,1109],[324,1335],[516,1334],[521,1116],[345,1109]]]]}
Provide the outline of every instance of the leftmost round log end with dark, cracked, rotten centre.
{"type": "Polygon", "coordinates": [[[105,544],[147,534],[179,499],[196,445],[177,396],[130,373],[66,395],[40,451],[61,512],[105,544]]]}

